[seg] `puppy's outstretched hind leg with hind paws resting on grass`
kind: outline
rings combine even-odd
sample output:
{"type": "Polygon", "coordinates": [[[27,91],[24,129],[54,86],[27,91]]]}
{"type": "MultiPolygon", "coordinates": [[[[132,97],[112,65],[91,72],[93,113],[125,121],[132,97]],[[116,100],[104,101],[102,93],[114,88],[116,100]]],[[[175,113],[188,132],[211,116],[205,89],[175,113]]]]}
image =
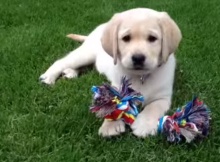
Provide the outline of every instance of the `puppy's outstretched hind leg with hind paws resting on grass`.
{"type": "Polygon", "coordinates": [[[89,43],[84,43],[76,50],[70,52],[64,58],[57,60],[44,74],[40,76],[41,82],[54,84],[56,79],[63,73],[66,78],[76,77],[79,67],[95,62],[95,50],[89,43]]]}

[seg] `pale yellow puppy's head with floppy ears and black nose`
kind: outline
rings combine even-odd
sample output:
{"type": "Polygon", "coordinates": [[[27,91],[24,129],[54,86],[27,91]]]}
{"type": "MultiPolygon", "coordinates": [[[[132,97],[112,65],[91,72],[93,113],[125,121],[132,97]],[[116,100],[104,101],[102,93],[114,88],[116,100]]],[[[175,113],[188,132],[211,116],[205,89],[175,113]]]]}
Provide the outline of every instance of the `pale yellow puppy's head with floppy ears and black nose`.
{"type": "Polygon", "coordinates": [[[166,63],[181,40],[176,23],[165,12],[133,9],[118,13],[107,23],[104,50],[127,70],[150,72],[166,63]]]}

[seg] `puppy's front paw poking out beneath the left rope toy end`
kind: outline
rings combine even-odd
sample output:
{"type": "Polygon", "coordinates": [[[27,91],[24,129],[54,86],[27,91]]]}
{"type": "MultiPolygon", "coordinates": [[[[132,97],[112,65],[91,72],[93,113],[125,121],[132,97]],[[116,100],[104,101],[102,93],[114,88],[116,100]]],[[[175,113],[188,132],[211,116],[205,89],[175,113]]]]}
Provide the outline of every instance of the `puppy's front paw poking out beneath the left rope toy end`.
{"type": "Polygon", "coordinates": [[[125,123],[121,120],[107,121],[105,120],[99,128],[99,135],[103,137],[116,136],[125,132],[125,123]]]}

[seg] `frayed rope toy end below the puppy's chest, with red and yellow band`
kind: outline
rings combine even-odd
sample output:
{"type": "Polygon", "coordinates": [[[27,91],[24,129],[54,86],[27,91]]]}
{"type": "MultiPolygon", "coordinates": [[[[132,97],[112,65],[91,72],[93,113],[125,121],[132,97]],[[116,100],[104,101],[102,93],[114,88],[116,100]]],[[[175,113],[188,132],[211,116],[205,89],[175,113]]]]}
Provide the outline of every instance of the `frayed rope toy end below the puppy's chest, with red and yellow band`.
{"type": "Polygon", "coordinates": [[[130,87],[128,79],[123,77],[121,82],[119,91],[109,84],[93,86],[94,101],[90,110],[96,113],[97,117],[108,120],[123,119],[126,124],[131,125],[138,115],[137,106],[144,98],[130,87]]]}

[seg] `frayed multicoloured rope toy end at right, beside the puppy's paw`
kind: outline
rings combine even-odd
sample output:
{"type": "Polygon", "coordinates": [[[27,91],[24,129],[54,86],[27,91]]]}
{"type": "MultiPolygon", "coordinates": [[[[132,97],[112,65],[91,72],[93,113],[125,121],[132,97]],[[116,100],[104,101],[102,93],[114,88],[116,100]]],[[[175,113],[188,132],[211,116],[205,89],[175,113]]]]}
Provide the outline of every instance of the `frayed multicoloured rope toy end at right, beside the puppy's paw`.
{"type": "Polygon", "coordinates": [[[195,97],[172,116],[159,119],[158,132],[167,136],[170,142],[180,142],[184,137],[191,142],[196,137],[206,137],[209,132],[210,110],[195,97]]]}

